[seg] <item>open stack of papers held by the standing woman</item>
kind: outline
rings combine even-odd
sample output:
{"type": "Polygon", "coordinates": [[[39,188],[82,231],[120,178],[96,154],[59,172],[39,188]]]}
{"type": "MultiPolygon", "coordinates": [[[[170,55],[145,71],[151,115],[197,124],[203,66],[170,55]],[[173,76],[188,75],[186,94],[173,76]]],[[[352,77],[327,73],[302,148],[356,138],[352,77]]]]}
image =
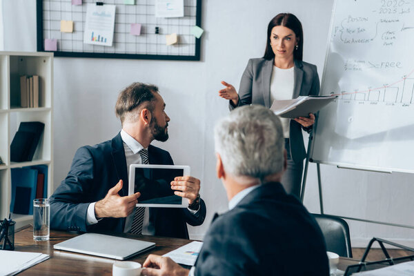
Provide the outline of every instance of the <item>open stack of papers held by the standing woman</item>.
{"type": "Polygon", "coordinates": [[[295,119],[308,117],[309,113],[318,112],[337,96],[299,96],[296,99],[273,101],[270,110],[283,118],[295,119]]]}

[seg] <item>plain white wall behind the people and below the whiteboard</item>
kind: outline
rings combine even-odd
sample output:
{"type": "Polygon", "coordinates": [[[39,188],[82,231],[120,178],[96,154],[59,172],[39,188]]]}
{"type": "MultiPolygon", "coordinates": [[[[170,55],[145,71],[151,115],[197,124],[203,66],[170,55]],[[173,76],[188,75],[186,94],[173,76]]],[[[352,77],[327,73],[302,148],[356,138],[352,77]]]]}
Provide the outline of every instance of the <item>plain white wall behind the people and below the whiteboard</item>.
{"type": "MultiPolygon", "coordinates": [[[[316,64],[322,76],[332,5],[333,0],[203,1],[206,32],[201,61],[55,58],[55,187],[66,176],[79,146],[111,139],[119,131],[114,113],[119,90],[133,81],[155,83],[171,121],[170,139],[154,144],[169,150],[176,164],[189,164],[192,175],[201,179],[208,216],[203,226],[190,228],[190,235],[202,237],[213,213],[227,209],[224,188],[215,177],[213,144],[215,121],[228,114],[227,102],[217,96],[220,81],[238,88],[248,59],[263,55],[268,21],[279,12],[293,12],[302,21],[304,60],[316,64]]],[[[10,13],[3,14],[6,21],[12,20],[10,13]]],[[[34,9],[30,16],[35,18],[34,9]]],[[[17,23],[16,32],[32,32],[26,24],[17,23]]],[[[18,39],[13,32],[5,30],[5,41],[18,39]]],[[[25,43],[36,47],[35,41],[25,43]]],[[[322,166],[325,212],[414,225],[408,211],[413,209],[409,196],[414,192],[413,180],[413,175],[322,166]]],[[[308,175],[305,205],[319,212],[315,164],[308,175]]],[[[403,239],[404,243],[414,239],[411,229],[348,222],[354,246],[365,246],[373,236],[403,239]]]]}

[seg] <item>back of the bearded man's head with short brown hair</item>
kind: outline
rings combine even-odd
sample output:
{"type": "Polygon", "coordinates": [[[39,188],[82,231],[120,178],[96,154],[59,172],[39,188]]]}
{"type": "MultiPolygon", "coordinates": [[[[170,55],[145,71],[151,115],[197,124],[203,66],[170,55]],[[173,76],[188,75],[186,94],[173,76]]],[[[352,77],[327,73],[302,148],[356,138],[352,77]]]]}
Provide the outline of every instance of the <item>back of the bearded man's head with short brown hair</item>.
{"type": "Polygon", "coordinates": [[[125,120],[136,121],[139,117],[139,111],[147,108],[152,112],[154,110],[155,93],[158,87],[152,84],[135,82],[119,92],[115,113],[121,119],[121,124],[125,120]],[[135,110],[138,108],[138,110],[135,110]]]}

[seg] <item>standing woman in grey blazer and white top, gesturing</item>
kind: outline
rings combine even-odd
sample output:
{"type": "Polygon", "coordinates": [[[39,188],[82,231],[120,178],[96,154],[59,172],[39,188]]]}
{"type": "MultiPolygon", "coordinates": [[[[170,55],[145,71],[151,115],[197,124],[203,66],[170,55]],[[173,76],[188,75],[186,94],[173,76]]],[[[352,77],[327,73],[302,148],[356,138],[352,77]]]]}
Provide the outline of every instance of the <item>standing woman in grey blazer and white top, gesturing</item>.
{"type": "MultiPolygon", "coordinates": [[[[268,24],[264,57],[248,61],[239,93],[231,84],[221,81],[226,88],[219,91],[219,96],[228,99],[229,108],[233,110],[251,103],[270,108],[274,100],[318,95],[316,66],[302,61],[303,44],[299,19],[293,14],[277,14],[268,24]]],[[[299,198],[306,157],[302,129],[307,132],[312,130],[315,115],[311,113],[308,117],[281,119],[288,157],[282,184],[287,193],[299,198]]]]}

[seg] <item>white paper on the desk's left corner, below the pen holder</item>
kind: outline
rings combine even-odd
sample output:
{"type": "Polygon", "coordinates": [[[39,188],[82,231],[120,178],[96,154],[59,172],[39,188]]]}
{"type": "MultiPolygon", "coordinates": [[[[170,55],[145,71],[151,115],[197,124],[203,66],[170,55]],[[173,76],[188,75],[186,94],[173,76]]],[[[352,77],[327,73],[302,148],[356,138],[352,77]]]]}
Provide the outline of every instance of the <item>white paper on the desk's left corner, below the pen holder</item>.
{"type": "Polygon", "coordinates": [[[0,250],[0,275],[16,275],[46,259],[49,255],[42,253],[0,250]]]}

